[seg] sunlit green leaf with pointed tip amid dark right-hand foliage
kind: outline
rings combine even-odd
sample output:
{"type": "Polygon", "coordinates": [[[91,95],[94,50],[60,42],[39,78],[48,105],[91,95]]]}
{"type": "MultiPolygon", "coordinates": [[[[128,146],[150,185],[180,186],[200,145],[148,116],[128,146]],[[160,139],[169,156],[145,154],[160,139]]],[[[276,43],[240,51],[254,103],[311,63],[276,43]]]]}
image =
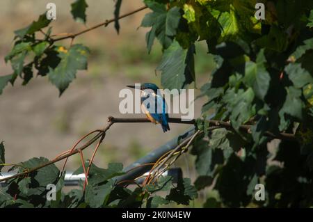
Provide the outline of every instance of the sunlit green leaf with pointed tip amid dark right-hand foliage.
{"type": "Polygon", "coordinates": [[[247,86],[252,87],[255,95],[260,100],[264,100],[271,80],[271,77],[264,66],[265,62],[264,49],[262,49],[259,51],[259,54],[257,54],[257,63],[251,61],[246,63],[244,77],[247,86]]]}

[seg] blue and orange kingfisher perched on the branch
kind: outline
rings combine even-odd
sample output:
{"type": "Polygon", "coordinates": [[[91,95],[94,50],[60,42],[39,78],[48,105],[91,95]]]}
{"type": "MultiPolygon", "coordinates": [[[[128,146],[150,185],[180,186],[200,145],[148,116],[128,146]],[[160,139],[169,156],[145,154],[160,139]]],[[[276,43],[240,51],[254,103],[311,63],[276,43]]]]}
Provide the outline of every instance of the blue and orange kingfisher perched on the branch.
{"type": "Polygon", "coordinates": [[[170,130],[170,126],[168,125],[168,113],[166,112],[166,101],[164,97],[158,94],[159,87],[150,83],[141,84],[140,88],[137,88],[136,86],[127,87],[141,90],[141,109],[145,112],[148,120],[154,124],[161,124],[163,132],[170,130]],[[149,101],[154,102],[154,112],[150,112],[150,103],[147,103],[146,101],[148,98],[150,98],[149,101]]]}

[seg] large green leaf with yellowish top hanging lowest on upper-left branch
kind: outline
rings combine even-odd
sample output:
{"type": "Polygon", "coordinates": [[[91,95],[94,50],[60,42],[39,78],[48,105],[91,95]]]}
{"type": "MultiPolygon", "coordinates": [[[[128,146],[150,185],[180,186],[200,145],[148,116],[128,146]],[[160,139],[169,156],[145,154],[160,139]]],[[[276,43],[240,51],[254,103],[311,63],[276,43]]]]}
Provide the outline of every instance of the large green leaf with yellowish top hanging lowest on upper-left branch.
{"type": "Polygon", "coordinates": [[[60,95],[70,85],[70,82],[76,78],[77,70],[87,69],[87,56],[89,49],[83,45],[72,45],[70,49],[64,47],[58,48],[58,56],[61,62],[53,70],[49,67],[49,80],[60,91],[60,95]]]}

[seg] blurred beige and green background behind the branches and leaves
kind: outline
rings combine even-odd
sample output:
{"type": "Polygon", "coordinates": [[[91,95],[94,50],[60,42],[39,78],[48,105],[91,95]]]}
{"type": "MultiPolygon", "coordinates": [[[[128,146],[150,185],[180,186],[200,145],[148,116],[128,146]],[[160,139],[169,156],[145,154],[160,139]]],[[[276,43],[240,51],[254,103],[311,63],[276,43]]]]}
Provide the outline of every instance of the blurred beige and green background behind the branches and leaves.
{"type": "MultiPolygon", "coordinates": [[[[6,64],[3,58],[13,47],[13,31],[38,19],[49,2],[56,3],[56,20],[51,22],[53,34],[75,33],[113,17],[113,0],[87,1],[86,25],[74,22],[70,13],[73,1],[0,1],[0,75],[12,72],[10,64],[6,64]]],[[[141,6],[143,2],[140,0],[123,1],[121,15],[141,6]]],[[[108,116],[133,117],[119,112],[118,106],[122,100],[118,97],[120,90],[134,83],[152,82],[160,85],[161,79],[160,74],[154,72],[161,61],[161,47],[155,41],[148,55],[145,47],[147,29],[138,28],[148,12],[143,10],[121,19],[119,35],[110,24],[76,38],[74,43],[82,43],[90,48],[88,70],[78,72],[77,79],[61,97],[58,97],[58,90],[47,77],[34,78],[26,86],[22,86],[22,81],[18,79],[14,87],[7,86],[3,90],[0,95],[0,141],[5,141],[7,163],[17,164],[31,157],[53,159],[69,150],[84,134],[104,127],[108,116]]],[[[69,47],[70,40],[58,44],[69,47]]],[[[198,88],[209,78],[214,62],[207,54],[205,42],[199,42],[196,51],[195,93],[199,94],[198,88]]],[[[204,101],[195,102],[195,118],[200,116],[204,101]]],[[[163,133],[159,125],[150,123],[113,125],[99,148],[95,164],[105,168],[109,162],[122,162],[127,166],[188,127],[170,124],[170,132],[163,133]]],[[[84,151],[85,159],[90,159],[92,152],[92,147],[84,151]]],[[[190,168],[188,175],[184,171],[186,177],[191,177],[195,171],[191,167],[192,158],[186,155],[177,162],[184,170],[190,168]]],[[[73,171],[79,164],[79,155],[74,155],[67,169],[73,171]]]]}

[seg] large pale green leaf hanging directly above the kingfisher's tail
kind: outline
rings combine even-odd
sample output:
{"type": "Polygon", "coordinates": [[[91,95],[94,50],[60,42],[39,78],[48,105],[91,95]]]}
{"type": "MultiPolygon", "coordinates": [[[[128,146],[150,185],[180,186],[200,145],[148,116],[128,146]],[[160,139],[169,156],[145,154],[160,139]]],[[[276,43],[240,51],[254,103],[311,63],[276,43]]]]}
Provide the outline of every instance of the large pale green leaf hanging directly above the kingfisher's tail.
{"type": "Polygon", "coordinates": [[[157,67],[157,70],[161,70],[163,88],[181,89],[194,81],[194,53],[194,45],[183,49],[176,41],[164,51],[161,64],[157,67]]]}

